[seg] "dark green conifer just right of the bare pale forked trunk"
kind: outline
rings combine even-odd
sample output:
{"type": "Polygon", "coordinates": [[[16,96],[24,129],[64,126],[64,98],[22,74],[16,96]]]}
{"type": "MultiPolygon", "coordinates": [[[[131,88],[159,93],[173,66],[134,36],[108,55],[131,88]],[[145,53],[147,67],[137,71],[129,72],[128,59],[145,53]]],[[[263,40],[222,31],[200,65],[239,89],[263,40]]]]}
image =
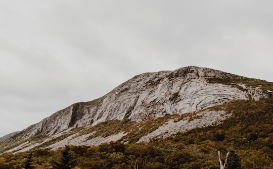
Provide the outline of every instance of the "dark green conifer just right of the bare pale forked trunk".
{"type": "Polygon", "coordinates": [[[226,165],[224,169],[241,169],[241,168],[242,168],[241,160],[232,146],[229,151],[229,155],[226,159],[226,165]]]}

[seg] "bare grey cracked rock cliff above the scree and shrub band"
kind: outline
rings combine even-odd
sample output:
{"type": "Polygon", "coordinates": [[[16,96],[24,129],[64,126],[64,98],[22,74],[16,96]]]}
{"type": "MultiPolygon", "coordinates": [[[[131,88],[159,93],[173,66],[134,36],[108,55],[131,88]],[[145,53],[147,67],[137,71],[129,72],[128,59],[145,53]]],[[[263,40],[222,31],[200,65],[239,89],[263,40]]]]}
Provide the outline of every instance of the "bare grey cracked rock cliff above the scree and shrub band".
{"type": "Polygon", "coordinates": [[[75,103],[25,129],[20,138],[38,133],[53,135],[68,128],[96,125],[125,118],[141,121],[166,114],[184,114],[235,99],[265,97],[258,89],[249,92],[231,85],[208,83],[228,74],[208,68],[185,67],[175,71],[145,73],[117,86],[105,96],[75,103]]]}

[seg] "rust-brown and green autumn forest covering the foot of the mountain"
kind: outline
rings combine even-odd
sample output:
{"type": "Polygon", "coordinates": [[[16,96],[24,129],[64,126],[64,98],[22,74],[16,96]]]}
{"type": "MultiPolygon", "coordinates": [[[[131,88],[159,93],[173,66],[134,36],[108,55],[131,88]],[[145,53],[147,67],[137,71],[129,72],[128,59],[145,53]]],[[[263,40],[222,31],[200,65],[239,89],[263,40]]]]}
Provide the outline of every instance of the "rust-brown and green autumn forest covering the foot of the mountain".
{"type": "Polygon", "coordinates": [[[240,163],[234,168],[273,168],[273,98],[235,100],[225,104],[224,109],[233,116],[217,126],[150,143],[117,141],[99,146],[5,152],[0,155],[0,168],[216,169],[220,168],[218,151],[223,162],[230,152],[229,156],[240,163]]]}

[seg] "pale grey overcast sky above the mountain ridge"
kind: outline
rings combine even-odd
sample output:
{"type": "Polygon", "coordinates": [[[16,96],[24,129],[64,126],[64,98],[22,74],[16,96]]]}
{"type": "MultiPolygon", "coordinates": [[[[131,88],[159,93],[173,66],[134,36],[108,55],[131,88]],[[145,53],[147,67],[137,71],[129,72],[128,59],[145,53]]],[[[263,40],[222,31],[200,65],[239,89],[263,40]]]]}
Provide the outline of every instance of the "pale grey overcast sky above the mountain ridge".
{"type": "Polygon", "coordinates": [[[273,1],[0,0],[0,137],[146,72],[273,82],[273,1]]]}

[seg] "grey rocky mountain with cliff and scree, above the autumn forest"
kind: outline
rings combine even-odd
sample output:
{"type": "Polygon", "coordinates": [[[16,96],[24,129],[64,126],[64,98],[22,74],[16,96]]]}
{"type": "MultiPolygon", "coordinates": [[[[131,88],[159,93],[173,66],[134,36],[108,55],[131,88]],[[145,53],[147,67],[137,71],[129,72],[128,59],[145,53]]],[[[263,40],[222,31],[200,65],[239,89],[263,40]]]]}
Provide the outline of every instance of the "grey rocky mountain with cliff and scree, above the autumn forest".
{"type": "Polygon", "coordinates": [[[189,66],[135,76],[96,100],[68,106],[27,129],[1,138],[0,151],[27,151],[103,142],[149,142],[232,117],[232,100],[272,97],[273,85],[189,66]]]}

